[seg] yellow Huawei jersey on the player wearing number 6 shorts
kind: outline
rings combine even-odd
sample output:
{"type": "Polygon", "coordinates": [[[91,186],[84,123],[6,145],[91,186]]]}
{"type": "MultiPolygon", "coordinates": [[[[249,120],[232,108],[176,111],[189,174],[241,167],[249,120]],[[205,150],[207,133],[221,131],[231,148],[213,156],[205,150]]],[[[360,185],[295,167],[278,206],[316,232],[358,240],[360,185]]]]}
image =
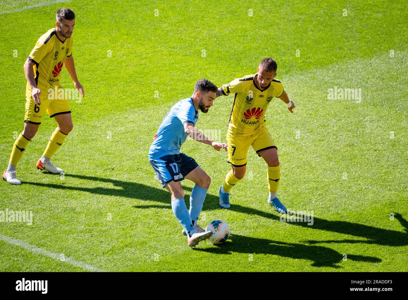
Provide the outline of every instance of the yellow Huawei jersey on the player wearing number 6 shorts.
{"type": "MultiPolygon", "coordinates": [[[[55,28],[44,33],[35,44],[29,55],[35,65],[35,83],[41,90],[41,97],[47,96],[49,88],[61,86],[61,70],[65,58],[72,55],[73,38],[67,38],[62,42],[55,28]]],[[[26,97],[31,98],[31,86],[27,82],[26,97]]]]}

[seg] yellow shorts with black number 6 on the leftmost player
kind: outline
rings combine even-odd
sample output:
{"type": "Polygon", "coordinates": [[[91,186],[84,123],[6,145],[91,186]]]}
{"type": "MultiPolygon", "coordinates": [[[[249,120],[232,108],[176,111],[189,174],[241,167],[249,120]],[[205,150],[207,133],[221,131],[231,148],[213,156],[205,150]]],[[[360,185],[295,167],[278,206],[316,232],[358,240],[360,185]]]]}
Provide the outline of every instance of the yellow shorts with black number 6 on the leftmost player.
{"type": "MultiPolygon", "coordinates": [[[[41,94],[44,91],[41,91],[41,94]]],[[[68,99],[48,99],[48,94],[40,96],[41,104],[35,104],[32,97],[26,98],[26,111],[24,116],[24,122],[31,124],[41,124],[42,116],[47,111],[50,118],[64,113],[71,113],[71,106],[68,99]]]]}

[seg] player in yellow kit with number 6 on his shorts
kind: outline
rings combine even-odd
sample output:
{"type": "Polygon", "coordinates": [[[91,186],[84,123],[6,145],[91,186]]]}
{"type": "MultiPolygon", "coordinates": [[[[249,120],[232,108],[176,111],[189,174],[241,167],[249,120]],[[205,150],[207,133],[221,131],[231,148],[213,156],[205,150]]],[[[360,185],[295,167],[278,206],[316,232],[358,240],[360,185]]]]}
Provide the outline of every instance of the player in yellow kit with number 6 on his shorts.
{"type": "Polygon", "coordinates": [[[75,88],[84,97],[84,88],[78,81],[72,57],[75,14],[69,8],[61,8],[56,13],[56,19],[57,27],[50,29],[38,39],[24,64],[27,78],[24,130],[14,142],[9,167],[3,173],[3,179],[11,184],[21,184],[16,177],[16,165],[27,144],[35,136],[46,111],[51,118],[55,119],[58,127],[51,135],[44,154],[38,160],[37,168],[51,173],[63,172],[51,163],[51,157],[73,127],[68,99],[62,96],[66,94],[61,86],[63,65],[73,79],[75,88]]]}

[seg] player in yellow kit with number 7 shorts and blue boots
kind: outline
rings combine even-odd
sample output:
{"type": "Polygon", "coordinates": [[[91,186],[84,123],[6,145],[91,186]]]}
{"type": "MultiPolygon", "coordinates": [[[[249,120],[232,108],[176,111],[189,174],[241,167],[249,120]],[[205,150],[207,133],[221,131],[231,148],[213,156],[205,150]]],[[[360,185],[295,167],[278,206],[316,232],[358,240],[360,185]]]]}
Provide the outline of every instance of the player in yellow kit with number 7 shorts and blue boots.
{"type": "Polygon", "coordinates": [[[220,206],[230,208],[229,195],[246,171],[246,155],[250,146],[268,164],[268,203],[279,213],[286,213],[286,207],[277,198],[280,180],[280,165],[277,147],[266,128],[265,113],[269,102],[274,97],[285,102],[293,113],[295,104],[289,100],[282,82],[274,79],[277,64],[272,58],[264,58],[257,73],[237,78],[224,84],[217,91],[217,96],[235,94],[228,121],[227,144],[228,162],[232,170],[226,175],[220,187],[220,206]]]}

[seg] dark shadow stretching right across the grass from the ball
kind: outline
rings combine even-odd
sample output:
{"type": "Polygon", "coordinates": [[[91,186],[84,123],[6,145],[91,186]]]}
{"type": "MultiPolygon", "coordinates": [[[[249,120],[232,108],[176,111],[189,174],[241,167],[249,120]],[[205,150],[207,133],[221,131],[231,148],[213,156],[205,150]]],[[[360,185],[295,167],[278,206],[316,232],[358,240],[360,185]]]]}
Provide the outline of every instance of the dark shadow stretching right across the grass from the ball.
{"type": "MultiPolygon", "coordinates": [[[[248,253],[248,254],[271,254],[295,259],[312,260],[313,267],[340,268],[337,265],[343,261],[344,256],[337,251],[323,246],[310,246],[305,244],[278,242],[263,238],[251,238],[234,234],[224,244],[209,248],[195,248],[196,251],[204,251],[215,254],[248,253]]],[[[361,262],[381,262],[381,259],[373,256],[361,256],[347,254],[347,260],[361,262]]]]}

